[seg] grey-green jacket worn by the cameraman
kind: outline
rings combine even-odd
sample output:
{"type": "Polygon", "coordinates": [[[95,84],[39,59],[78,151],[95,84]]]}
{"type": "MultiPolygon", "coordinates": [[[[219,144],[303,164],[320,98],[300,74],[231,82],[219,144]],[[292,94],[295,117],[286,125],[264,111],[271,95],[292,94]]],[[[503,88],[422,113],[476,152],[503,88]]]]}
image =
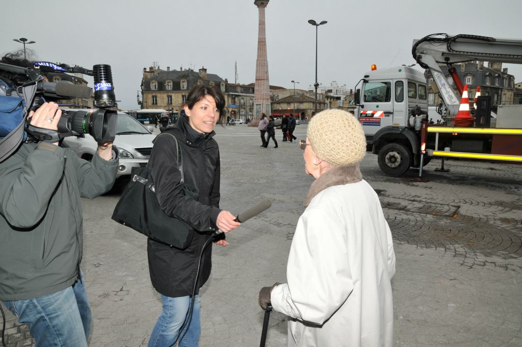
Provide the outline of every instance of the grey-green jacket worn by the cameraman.
{"type": "Polygon", "coordinates": [[[0,163],[0,299],[56,293],[77,279],[82,255],[81,197],[108,191],[112,160],[92,163],[72,149],[22,143],[0,163]]]}

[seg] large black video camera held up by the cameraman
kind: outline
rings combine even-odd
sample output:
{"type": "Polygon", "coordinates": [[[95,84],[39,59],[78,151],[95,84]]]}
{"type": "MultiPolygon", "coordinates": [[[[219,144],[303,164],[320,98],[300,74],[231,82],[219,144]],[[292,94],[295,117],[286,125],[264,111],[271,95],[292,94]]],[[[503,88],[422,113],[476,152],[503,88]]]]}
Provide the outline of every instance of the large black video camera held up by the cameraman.
{"type": "Polygon", "coordinates": [[[79,86],[67,81],[45,82],[43,73],[81,73],[94,77],[94,107],[90,111],[62,111],[57,131],[38,128],[26,122],[25,131],[39,141],[56,142],[67,136],[90,134],[98,143],[114,141],[116,133],[117,103],[115,100],[110,65],[94,65],[92,70],[67,64],[37,62],[34,67],[21,67],[0,63],[0,93],[3,95],[19,94],[19,86],[31,83],[36,85],[36,92],[31,105],[33,110],[46,101],[91,97],[91,88],[79,86]]]}

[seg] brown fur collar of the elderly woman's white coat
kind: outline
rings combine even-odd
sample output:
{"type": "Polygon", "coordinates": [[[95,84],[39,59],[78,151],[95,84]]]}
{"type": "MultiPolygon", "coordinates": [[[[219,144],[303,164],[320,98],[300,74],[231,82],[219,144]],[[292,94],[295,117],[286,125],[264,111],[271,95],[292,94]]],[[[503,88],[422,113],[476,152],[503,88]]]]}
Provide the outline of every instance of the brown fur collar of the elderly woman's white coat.
{"type": "Polygon", "coordinates": [[[308,206],[315,195],[331,186],[340,186],[341,184],[356,183],[362,180],[362,173],[359,169],[359,163],[336,166],[329,169],[323,175],[316,179],[306,195],[304,206],[308,206]]]}

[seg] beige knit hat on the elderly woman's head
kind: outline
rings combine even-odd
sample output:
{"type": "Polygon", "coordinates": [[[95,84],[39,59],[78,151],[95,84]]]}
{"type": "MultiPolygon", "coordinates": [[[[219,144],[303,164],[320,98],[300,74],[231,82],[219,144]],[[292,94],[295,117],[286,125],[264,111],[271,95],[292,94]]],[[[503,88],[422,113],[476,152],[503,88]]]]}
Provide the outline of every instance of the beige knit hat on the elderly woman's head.
{"type": "Polygon", "coordinates": [[[312,117],[308,140],[315,154],[334,166],[359,163],[366,138],[359,121],[343,110],[325,110],[312,117]]]}

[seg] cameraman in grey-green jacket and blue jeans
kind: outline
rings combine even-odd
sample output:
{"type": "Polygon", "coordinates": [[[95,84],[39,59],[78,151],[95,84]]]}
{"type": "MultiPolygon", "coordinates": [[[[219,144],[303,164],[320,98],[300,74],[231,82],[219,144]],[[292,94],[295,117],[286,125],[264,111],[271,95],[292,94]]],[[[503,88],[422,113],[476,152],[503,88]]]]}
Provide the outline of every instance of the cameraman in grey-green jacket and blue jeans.
{"type": "MultiPolygon", "coordinates": [[[[49,102],[29,118],[56,130],[61,115],[49,102]]],[[[0,299],[29,326],[37,347],[87,346],[80,197],[112,187],[117,157],[112,142],[99,145],[92,163],[57,142],[23,142],[0,163],[0,299]]]]}

